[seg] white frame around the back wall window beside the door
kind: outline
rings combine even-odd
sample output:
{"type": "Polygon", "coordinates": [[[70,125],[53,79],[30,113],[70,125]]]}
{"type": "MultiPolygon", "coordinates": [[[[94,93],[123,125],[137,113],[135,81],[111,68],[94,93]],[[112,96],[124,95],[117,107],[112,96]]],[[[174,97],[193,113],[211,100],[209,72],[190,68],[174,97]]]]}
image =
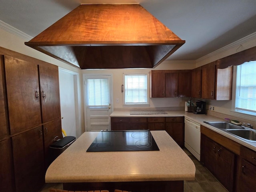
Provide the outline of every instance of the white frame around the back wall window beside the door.
{"type": "Polygon", "coordinates": [[[149,98],[149,89],[150,89],[150,85],[149,85],[149,72],[142,72],[142,73],[123,73],[123,84],[122,86],[124,86],[123,88],[123,107],[149,107],[150,106],[150,98],[149,98]],[[125,103],[125,75],[146,75],[147,76],[147,103],[146,104],[126,104],[125,103]]]}

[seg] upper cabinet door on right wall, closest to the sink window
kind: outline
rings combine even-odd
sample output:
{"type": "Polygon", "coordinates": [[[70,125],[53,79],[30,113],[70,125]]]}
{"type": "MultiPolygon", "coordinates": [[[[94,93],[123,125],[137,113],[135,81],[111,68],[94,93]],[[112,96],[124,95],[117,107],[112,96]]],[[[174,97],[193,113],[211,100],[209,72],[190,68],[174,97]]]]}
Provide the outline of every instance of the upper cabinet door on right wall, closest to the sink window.
{"type": "Polygon", "coordinates": [[[202,98],[215,99],[215,62],[202,66],[202,98]]]}

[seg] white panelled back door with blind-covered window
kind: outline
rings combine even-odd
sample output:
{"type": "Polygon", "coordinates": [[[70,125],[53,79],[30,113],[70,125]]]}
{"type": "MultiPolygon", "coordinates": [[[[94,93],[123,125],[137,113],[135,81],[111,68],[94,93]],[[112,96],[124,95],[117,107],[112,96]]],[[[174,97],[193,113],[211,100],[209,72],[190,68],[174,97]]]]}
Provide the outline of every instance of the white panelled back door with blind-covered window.
{"type": "Polygon", "coordinates": [[[110,130],[112,75],[84,74],[87,131],[110,130]]]}

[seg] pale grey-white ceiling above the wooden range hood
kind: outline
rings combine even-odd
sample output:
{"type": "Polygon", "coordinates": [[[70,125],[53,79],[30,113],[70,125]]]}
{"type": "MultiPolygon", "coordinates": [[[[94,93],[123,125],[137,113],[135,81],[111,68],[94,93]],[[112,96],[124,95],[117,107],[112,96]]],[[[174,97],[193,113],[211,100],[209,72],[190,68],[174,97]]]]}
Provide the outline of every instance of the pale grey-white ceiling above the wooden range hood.
{"type": "Polygon", "coordinates": [[[167,60],[197,60],[256,32],[255,0],[0,0],[0,20],[35,37],[80,4],[139,3],[186,43],[167,60]]]}

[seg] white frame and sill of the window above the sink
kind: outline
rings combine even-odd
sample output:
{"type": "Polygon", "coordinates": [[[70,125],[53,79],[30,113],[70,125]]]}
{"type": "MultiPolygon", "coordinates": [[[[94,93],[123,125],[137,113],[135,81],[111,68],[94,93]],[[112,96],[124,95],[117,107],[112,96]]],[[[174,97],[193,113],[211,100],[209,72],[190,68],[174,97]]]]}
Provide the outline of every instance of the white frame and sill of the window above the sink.
{"type": "Polygon", "coordinates": [[[246,110],[236,109],[236,82],[237,82],[237,66],[233,66],[233,83],[232,83],[232,109],[230,110],[232,116],[245,118],[248,120],[255,120],[256,112],[248,112],[246,110]]]}

